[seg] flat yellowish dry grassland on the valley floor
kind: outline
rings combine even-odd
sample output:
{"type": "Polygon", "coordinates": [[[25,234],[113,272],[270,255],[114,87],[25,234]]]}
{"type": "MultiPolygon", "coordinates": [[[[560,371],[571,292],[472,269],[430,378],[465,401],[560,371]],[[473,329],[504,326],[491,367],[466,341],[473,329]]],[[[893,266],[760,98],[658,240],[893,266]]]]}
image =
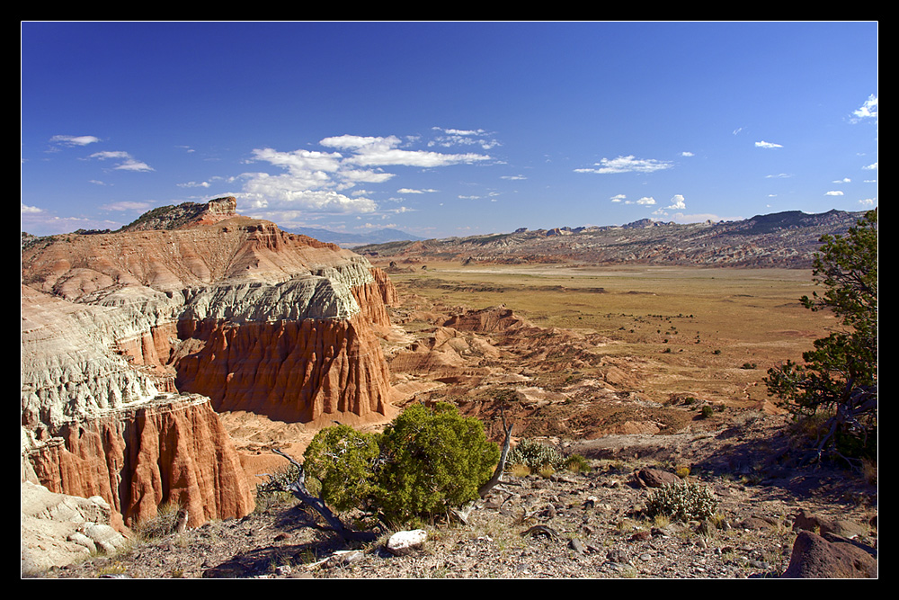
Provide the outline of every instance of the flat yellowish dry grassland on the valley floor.
{"type": "Polygon", "coordinates": [[[540,327],[606,336],[611,343],[591,352],[634,364],[639,391],[656,401],[680,394],[762,407],[767,370],[801,359],[837,325],[798,302],[814,291],[809,271],[429,262],[391,278],[445,306],[504,304],[540,327]]]}

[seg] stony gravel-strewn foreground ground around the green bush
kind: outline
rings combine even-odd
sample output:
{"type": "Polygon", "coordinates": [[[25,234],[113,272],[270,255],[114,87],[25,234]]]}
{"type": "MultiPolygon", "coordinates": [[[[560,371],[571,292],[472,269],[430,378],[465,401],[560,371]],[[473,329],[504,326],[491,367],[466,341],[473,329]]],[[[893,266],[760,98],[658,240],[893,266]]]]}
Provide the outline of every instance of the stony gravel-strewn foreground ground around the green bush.
{"type": "Polygon", "coordinates": [[[782,425],[760,415],[714,434],[578,447],[593,457],[588,472],[507,476],[467,524],[417,524],[427,540],[405,556],[386,549],[393,531],[378,531],[376,542],[343,542],[304,506],[276,497],[243,519],[134,542],[117,556],[40,577],[777,578],[798,528],[876,552],[873,478],[792,464],[782,425]],[[716,452],[723,443],[734,444],[731,459],[716,452]],[[650,519],[654,488],[646,486],[688,465],[688,479],[713,491],[716,517],[650,519]]]}

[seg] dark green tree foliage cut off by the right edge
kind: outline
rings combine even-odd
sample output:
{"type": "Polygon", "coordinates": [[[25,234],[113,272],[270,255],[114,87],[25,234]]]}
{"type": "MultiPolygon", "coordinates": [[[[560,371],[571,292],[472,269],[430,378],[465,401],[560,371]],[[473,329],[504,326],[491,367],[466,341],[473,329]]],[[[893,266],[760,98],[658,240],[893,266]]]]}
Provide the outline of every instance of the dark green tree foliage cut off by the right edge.
{"type": "Polygon", "coordinates": [[[831,310],[843,328],[814,341],[804,364],[787,361],[765,382],[797,419],[822,423],[817,449],[851,456],[877,452],[877,210],[846,236],[824,236],[814,260],[822,294],[800,299],[831,310]]]}

